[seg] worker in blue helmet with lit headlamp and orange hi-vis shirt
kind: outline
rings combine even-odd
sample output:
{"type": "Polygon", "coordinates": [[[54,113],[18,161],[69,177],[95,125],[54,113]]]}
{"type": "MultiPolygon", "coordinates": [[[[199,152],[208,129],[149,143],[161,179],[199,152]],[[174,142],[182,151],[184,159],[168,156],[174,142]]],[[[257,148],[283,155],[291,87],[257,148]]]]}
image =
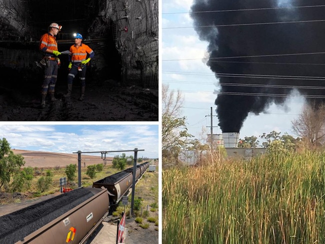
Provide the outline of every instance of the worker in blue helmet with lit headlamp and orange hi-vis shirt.
{"type": "Polygon", "coordinates": [[[69,59],[69,73],[67,75],[67,93],[65,97],[70,97],[72,90],[72,81],[76,74],[79,76],[81,83],[80,98],[78,100],[82,101],[84,97],[85,90],[85,75],[88,62],[94,56],[93,50],[86,44],[81,43],[82,35],[76,33],[74,36],[74,44],[70,46],[71,54],[68,56],[69,59]]]}

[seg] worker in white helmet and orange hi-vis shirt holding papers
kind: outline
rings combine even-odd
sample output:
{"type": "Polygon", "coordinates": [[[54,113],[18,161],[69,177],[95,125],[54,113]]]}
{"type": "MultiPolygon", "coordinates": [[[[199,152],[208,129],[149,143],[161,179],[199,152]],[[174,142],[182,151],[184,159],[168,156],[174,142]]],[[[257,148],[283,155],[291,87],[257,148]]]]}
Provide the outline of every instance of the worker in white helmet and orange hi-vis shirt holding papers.
{"type": "Polygon", "coordinates": [[[61,25],[51,23],[48,26],[48,32],[40,37],[39,49],[43,52],[43,58],[46,65],[44,66],[44,80],[41,86],[41,107],[45,107],[47,93],[51,101],[55,101],[54,88],[57,78],[57,68],[60,63],[57,55],[61,54],[57,50],[57,42],[55,35],[61,30],[61,25]]]}

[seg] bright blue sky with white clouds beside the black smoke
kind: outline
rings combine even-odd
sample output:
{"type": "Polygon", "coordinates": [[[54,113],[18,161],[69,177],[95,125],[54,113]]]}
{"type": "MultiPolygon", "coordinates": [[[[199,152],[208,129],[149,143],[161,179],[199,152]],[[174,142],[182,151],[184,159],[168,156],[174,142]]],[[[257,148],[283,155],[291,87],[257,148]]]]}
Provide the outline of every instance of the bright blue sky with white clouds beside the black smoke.
{"type": "MultiPolygon", "coordinates": [[[[187,117],[188,132],[196,138],[210,133],[210,107],[212,107],[213,133],[222,133],[217,127],[214,100],[218,80],[204,62],[207,42],[200,41],[188,12],[192,0],[163,0],[162,4],[162,83],[169,89],[179,90],[184,97],[182,115],[187,117]],[[177,28],[175,28],[177,27],[177,28]],[[178,28],[179,27],[179,28],[178,28]]],[[[239,137],[273,130],[294,135],[291,121],[296,119],[303,106],[303,98],[293,94],[283,106],[271,104],[259,115],[249,114],[239,137]]]]}

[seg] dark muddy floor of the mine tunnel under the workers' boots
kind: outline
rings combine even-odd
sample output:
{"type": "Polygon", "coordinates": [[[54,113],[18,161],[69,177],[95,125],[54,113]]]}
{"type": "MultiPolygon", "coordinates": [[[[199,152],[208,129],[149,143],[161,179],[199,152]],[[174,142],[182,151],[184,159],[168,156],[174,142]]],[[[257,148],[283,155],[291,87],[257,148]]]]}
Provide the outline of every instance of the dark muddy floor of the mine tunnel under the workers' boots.
{"type": "MultiPolygon", "coordinates": [[[[10,82],[10,81],[8,81],[10,82]]],[[[40,107],[40,93],[24,85],[0,84],[0,121],[158,121],[158,90],[120,86],[114,80],[86,84],[84,100],[79,101],[80,86],[73,83],[70,98],[65,98],[66,84],[55,87],[56,101],[47,97],[40,107]]]]}

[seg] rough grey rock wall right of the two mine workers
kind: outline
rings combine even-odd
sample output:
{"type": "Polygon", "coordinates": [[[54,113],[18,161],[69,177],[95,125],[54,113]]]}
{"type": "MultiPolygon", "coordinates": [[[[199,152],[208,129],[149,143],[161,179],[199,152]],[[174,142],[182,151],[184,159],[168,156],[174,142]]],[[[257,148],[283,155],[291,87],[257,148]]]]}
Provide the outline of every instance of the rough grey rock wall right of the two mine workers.
{"type": "Polygon", "coordinates": [[[105,0],[102,6],[88,32],[97,36],[112,32],[120,56],[121,82],[157,87],[158,1],[105,0]]]}

